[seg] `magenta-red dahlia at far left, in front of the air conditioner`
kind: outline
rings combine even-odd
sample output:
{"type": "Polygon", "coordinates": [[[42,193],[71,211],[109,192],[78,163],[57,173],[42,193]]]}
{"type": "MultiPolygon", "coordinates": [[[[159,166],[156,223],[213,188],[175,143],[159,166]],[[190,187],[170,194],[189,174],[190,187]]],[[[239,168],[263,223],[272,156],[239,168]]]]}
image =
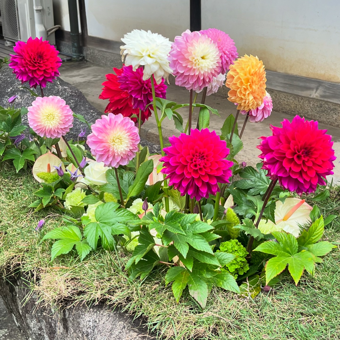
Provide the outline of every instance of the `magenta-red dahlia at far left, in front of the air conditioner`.
{"type": "Polygon", "coordinates": [[[21,83],[29,82],[31,87],[37,85],[46,87],[46,83],[52,83],[60,73],[59,66],[62,60],[58,57],[58,51],[43,38],[31,37],[27,43],[17,41],[13,48],[16,54],[11,54],[9,66],[21,83]]]}

